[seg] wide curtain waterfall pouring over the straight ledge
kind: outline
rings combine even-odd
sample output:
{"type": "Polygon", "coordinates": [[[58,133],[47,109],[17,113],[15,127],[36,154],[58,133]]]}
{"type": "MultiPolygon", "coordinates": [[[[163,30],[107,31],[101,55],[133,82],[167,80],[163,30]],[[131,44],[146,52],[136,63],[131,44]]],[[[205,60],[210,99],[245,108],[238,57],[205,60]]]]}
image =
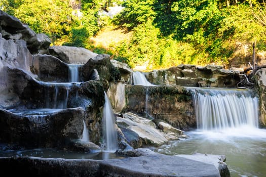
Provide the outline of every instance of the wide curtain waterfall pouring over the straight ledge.
{"type": "Polygon", "coordinates": [[[188,90],[193,93],[198,129],[258,127],[258,98],[252,90],[188,90]]]}

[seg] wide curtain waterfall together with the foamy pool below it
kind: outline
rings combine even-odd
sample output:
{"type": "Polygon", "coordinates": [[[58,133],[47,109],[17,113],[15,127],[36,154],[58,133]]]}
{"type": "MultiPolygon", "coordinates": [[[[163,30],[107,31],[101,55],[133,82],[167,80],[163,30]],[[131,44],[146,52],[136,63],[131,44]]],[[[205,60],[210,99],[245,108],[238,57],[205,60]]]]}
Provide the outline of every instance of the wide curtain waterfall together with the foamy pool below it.
{"type": "Polygon", "coordinates": [[[197,129],[187,139],[163,145],[164,154],[225,155],[231,176],[266,176],[266,129],[258,128],[258,99],[252,90],[193,92],[197,129]]]}

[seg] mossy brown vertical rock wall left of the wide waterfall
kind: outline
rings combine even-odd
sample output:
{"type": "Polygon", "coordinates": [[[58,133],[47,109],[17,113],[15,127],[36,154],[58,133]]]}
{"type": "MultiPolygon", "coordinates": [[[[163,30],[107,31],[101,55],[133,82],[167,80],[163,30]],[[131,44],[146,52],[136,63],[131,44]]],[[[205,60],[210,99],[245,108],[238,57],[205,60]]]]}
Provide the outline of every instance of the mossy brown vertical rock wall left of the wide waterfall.
{"type": "Polygon", "coordinates": [[[182,86],[126,85],[125,112],[162,119],[175,128],[196,126],[191,94],[182,86]]]}

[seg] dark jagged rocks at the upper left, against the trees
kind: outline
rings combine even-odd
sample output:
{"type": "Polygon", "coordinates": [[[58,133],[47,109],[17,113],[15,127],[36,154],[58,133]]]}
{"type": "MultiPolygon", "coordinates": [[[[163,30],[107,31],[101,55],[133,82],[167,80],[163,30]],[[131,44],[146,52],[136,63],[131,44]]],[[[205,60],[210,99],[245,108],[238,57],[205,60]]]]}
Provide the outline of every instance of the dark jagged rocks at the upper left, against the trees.
{"type": "Polygon", "coordinates": [[[51,44],[50,38],[45,34],[36,34],[26,24],[22,24],[16,17],[10,16],[0,10],[0,33],[3,38],[24,40],[31,54],[48,53],[51,44]]]}

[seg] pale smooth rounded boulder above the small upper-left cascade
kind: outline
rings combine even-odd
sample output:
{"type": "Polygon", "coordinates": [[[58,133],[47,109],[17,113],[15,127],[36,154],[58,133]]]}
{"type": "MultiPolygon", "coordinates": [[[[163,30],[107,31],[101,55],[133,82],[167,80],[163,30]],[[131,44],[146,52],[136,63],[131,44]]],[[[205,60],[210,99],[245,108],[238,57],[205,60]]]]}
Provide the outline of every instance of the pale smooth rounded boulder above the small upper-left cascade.
{"type": "Polygon", "coordinates": [[[49,53],[68,64],[86,64],[98,55],[84,48],[68,46],[51,46],[49,53]]]}

